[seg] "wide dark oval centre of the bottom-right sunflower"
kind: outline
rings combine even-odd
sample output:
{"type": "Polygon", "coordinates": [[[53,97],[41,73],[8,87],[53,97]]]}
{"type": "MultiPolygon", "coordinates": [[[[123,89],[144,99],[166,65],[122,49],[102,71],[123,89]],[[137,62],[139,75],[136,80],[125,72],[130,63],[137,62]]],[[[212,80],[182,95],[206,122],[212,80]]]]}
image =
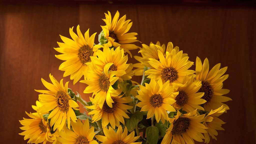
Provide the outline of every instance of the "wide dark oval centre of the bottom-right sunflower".
{"type": "Polygon", "coordinates": [[[182,133],[186,132],[190,124],[189,118],[179,117],[177,120],[173,122],[173,135],[181,135],[182,133]]]}

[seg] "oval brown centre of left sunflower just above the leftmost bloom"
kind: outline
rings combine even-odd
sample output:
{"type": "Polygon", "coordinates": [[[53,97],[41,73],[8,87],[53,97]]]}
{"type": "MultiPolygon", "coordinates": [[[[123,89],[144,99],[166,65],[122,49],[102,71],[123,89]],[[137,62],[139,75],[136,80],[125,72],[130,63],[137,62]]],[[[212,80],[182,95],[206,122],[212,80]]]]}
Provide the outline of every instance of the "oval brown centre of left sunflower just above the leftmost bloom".
{"type": "Polygon", "coordinates": [[[64,91],[58,91],[56,94],[56,103],[62,112],[67,112],[69,109],[68,94],[64,91]]]}

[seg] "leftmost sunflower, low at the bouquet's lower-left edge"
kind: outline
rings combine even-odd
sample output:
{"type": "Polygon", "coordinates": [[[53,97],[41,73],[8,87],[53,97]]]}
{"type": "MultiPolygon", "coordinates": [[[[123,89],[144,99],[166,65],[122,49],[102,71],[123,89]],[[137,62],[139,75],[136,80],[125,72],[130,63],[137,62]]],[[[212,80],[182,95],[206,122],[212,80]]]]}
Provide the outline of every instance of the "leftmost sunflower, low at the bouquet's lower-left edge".
{"type": "Polygon", "coordinates": [[[19,133],[19,135],[24,136],[24,140],[29,139],[28,143],[42,142],[45,144],[47,141],[53,142],[50,138],[52,136],[50,126],[48,122],[44,120],[43,116],[35,116],[31,112],[30,114],[26,112],[26,114],[32,119],[23,118],[23,120],[19,120],[20,124],[23,125],[20,129],[25,130],[19,133]]]}

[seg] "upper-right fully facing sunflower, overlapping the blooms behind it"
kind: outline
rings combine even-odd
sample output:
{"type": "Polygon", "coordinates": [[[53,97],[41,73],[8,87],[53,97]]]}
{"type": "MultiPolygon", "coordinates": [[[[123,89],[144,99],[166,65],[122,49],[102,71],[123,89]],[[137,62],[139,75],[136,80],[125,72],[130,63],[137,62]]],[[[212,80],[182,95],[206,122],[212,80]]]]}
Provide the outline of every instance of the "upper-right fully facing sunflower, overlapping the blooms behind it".
{"type": "Polygon", "coordinates": [[[149,58],[150,61],[147,61],[151,65],[151,69],[145,71],[148,78],[162,79],[163,82],[169,80],[171,84],[181,84],[186,75],[194,75],[194,70],[188,70],[193,62],[188,60],[188,56],[183,57],[183,51],[176,53],[176,50],[173,49],[166,57],[160,50],[157,51],[160,61],[153,58],[149,58]]]}

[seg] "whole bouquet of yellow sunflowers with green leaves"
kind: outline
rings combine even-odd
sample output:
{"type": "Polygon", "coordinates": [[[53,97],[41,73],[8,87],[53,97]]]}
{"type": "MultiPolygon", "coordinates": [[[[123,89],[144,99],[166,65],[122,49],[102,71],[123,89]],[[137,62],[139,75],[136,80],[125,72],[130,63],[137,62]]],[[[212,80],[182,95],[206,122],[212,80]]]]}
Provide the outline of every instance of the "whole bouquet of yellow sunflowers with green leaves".
{"type": "Polygon", "coordinates": [[[61,36],[54,48],[64,60],[59,70],[70,75],[73,84],[81,78],[88,86],[84,93],[92,93],[85,101],[68,88],[68,82],[51,82],[43,78],[45,90],[39,92],[36,111],[23,118],[20,135],[28,143],[54,144],[191,144],[194,140],[209,143],[216,139],[217,130],[224,130],[218,117],[229,107],[222,102],[231,100],[223,96],[227,67],[220,64],[209,70],[206,58],[202,64],[196,58],[196,69],[189,69],[194,62],[188,54],[159,42],[138,47],[133,42],[137,33],[127,33],[131,20],[126,15],[119,19],[117,11],[112,19],[105,13],[106,25],[101,26],[99,43],[94,44],[96,33],[83,35],[77,26],[69,28],[72,39],[61,36]],[[134,56],[136,64],[128,64],[130,50],[140,49],[141,56],[134,56]],[[129,55],[129,56],[128,56],[129,55]],[[132,81],[142,76],[141,83],[132,81]],[[82,107],[79,108],[78,102],[82,107]],[[84,111],[87,112],[84,112],[84,111]]]}

